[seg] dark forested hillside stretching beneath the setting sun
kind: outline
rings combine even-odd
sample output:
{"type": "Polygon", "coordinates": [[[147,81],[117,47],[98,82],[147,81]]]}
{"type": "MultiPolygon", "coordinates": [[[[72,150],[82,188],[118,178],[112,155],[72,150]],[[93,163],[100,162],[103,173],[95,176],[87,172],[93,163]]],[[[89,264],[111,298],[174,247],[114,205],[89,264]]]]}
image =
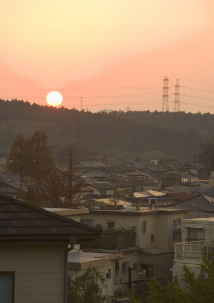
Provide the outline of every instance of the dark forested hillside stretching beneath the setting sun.
{"type": "Polygon", "coordinates": [[[0,100],[1,157],[7,156],[17,134],[30,138],[44,131],[49,144],[73,146],[106,155],[140,158],[159,150],[171,158],[193,160],[198,145],[214,136],[214,115],[145,112],[99,113],[0,100]],[[9,142],[9,141],[7,141],[9,142]]]}

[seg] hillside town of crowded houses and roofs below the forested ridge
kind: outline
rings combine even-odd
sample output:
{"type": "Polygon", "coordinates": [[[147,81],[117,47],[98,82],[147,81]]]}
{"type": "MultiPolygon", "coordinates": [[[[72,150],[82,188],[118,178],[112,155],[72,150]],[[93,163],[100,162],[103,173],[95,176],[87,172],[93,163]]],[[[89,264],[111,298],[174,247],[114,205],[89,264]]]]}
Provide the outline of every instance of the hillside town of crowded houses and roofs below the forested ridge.
{"type": "Polygon", "coordinates": [[[72,206],[28,203],[28,176],[21,186],[7,168],[2,159],[1,268],[17,302],[66,302],[67,277],[89,268],[102,273],[103,302],[149,302],[153,277],[172,281],[183,265],[199,275],[204,251],[213,256],[214,173],[199,163],[79,162],[72,206]]]}

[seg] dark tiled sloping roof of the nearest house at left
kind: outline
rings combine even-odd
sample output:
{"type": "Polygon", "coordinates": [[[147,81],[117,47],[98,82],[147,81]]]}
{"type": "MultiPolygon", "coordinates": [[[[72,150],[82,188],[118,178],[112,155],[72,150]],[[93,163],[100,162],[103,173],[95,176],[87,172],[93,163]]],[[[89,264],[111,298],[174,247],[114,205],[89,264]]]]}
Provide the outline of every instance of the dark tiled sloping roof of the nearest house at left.
{"type": "Polygon", "coordinates": [[[94,239],[100,230],[0,195],[0,244],[4,240],[94,239]]]}

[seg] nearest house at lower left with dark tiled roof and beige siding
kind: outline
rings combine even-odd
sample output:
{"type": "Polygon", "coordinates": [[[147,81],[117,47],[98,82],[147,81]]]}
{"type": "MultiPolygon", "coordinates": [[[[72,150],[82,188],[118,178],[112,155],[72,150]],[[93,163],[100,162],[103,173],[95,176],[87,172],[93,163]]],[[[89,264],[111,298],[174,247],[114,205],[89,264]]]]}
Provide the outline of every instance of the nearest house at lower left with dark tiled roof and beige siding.
{"type": "Polygon", "coordinates": [[[66,303],[68,251],[101,231],[5,195],[0,222],[0,301],[66,303]]]}

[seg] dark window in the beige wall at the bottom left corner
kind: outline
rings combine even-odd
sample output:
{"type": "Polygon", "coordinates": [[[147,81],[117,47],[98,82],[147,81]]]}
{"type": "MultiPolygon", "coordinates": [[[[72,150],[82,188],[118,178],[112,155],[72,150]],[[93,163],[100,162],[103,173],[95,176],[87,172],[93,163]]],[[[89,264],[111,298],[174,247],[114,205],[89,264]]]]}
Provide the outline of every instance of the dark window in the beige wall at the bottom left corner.
{"type": "Polygon", "coordinates": [[[0,272],[0,302],[14,302],[14,272],[0,272]]]}

